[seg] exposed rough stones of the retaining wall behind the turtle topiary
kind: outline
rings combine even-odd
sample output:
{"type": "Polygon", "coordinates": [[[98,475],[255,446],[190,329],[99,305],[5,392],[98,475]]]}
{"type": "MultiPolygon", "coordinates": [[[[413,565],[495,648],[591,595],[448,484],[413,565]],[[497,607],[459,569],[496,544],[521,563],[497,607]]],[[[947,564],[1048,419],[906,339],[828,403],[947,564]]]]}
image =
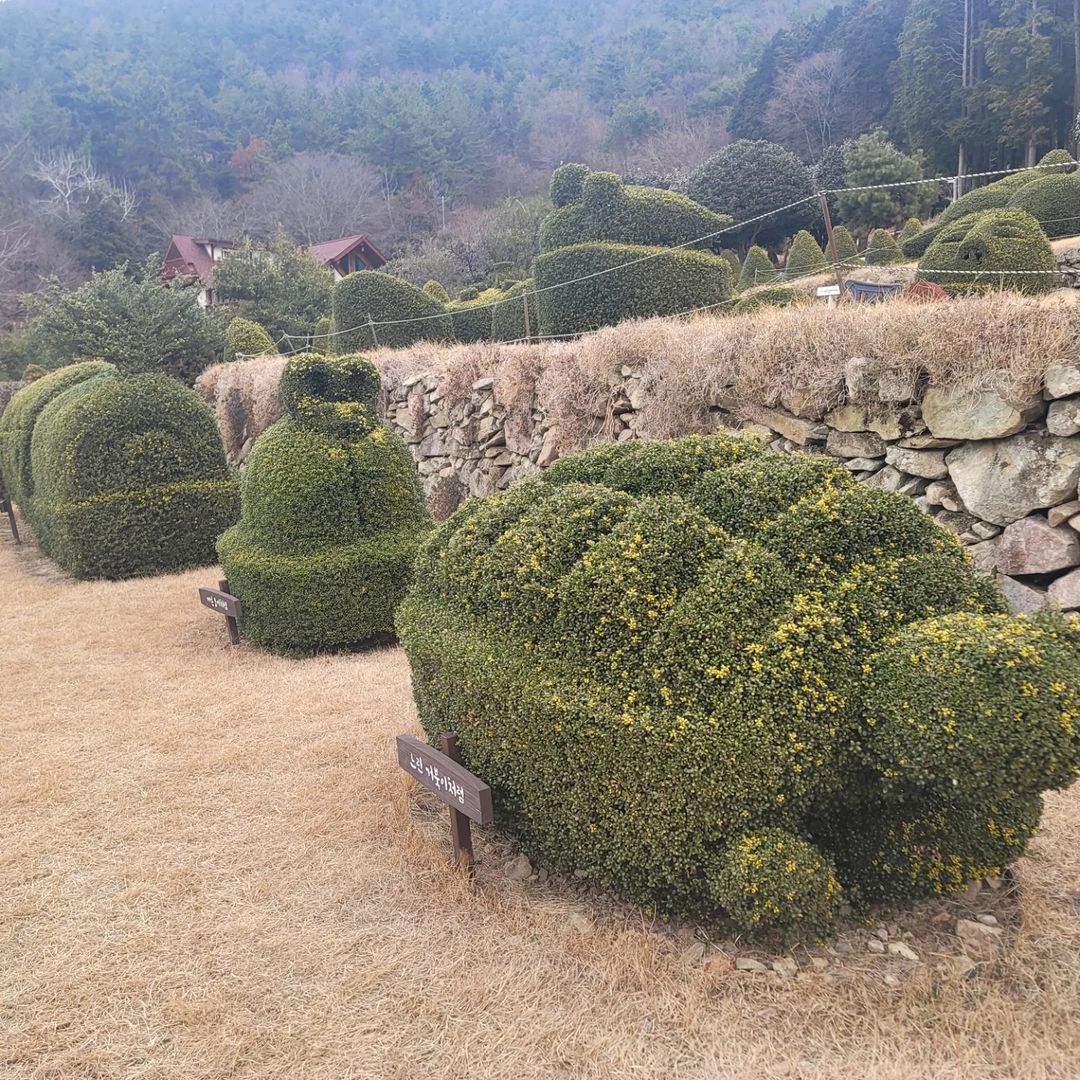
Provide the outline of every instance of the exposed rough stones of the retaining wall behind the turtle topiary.
{"type": "MultiPolygon", "coordinates": [[[[774,449],[828,454],[856,478],[915,499],[969,545],[1018,611],[1048,602],[1080,610],[1080,367],[1058,365],[1040,391],[1013,400],[904,381],[872,361],[846,367],[846,404],[816,409],[794,392],[772,407],[710,402],[715,430],[742,430],[774,449]]],[[[622,368],[595,417],[597,442],[648,437],[640,374],[622,368]]],[[[449,404],[441,379],[418,375],[391,388],[387,420],[408,443],[432,509],[446,516],[551,464],[564,450],[537,408],[500,402],[477,379],[449,404]]]]}

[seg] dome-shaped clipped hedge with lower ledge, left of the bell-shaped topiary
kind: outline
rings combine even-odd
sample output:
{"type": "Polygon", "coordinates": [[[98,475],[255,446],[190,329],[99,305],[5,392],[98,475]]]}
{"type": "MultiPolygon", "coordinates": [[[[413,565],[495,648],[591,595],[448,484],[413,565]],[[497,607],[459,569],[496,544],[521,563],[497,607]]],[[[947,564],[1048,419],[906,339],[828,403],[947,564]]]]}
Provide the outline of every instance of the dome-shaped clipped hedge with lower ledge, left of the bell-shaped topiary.
{"type": "Polygon", "coordinates": [[[213,415],[164,375],[107,372],[53,397],[30,468],[38,544],[79,578],[205,566],[240,511],[213,415]]]}

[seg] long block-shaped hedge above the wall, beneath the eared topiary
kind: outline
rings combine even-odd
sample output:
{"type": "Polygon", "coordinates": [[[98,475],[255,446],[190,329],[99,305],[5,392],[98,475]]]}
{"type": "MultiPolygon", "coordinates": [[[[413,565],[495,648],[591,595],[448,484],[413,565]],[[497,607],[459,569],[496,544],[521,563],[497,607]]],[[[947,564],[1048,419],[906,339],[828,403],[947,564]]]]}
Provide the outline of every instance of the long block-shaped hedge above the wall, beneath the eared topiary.
{"type": "Polygon", "coordinates": [[[675,314],[731,295],[727,260],[686,248],[578,244],[539,256],[534,274],[540,289],[588,279],[537,297],[540,333],[545,335],[583,334],[625,319],[675,314]]]}

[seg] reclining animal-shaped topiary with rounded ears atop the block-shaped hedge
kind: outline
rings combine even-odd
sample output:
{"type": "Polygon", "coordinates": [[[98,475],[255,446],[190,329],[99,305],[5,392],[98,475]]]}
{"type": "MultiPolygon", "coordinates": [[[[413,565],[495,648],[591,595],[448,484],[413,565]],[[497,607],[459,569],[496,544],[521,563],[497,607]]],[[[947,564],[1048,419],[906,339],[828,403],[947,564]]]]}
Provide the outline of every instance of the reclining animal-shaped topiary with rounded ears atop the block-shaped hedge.
{"type": "Polygon", "coordinates": [[[557,168],[551,192],[555,210],[540,226],[542,252],[593,241],[671,247],[731,221],[675,191],[624,184],[615,173],[593,173],[584,165],[557,168]]]}

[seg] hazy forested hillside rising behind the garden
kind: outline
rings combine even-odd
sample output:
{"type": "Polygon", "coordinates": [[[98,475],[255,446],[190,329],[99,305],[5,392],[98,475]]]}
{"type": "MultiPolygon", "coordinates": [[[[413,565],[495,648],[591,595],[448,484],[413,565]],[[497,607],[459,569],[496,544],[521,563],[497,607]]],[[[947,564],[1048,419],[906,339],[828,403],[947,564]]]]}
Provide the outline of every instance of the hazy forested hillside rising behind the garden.
{"type": "Polygon", "coordinates": [[[1078,55],[1080,0],[4,0],[0,326],[173,231],[364,231],[483,284],[566,161],[683,186],[766,138],[837,186],[880,127],[928,172],[1030,163],[1078,55]]]}

